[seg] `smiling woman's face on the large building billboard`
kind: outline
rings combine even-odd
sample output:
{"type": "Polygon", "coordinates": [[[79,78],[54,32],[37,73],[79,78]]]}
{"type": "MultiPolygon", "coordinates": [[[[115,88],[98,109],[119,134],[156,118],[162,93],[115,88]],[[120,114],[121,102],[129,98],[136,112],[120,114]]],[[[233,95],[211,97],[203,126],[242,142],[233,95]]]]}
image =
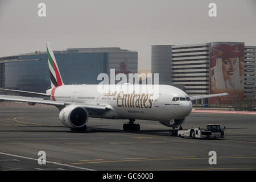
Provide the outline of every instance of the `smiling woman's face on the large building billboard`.
{"type": "Polygon", "coordinates": [[[224,80],[231,79],[236,71],[237,57],[222,59],[222,72],[224,80]]]}

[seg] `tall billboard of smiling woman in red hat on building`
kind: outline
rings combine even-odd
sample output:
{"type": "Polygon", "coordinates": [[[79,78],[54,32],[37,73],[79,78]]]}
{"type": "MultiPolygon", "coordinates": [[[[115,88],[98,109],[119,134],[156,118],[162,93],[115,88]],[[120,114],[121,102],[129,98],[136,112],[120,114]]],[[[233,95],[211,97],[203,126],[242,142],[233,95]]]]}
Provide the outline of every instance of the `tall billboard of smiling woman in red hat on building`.
{"type": "Polygon", "coordinates": [[[210,94],[229,96],[210,98],[210,104],[232,104],[243,100],[244,43],[210,43],[210,94]]]}

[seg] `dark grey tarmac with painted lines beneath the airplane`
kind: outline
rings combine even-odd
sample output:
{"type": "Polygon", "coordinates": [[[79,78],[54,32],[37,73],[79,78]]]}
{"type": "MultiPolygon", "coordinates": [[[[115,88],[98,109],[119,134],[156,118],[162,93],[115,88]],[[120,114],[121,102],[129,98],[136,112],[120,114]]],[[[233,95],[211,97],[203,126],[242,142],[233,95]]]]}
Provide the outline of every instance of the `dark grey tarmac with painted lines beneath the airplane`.
{"type": "Polygon", "coordinates": [[[183,124],[226,126],[224,139],[170,137],[157,121],[137,120],[139,132],[124,132],[126,120],[89,118],[88,131],[72,133],[59,110],[36,104],[0,104],[0,170],[256,170],[256,115],[192,112],[183,124]],[[39,164],[39,151],[46,164],[39,164]],[[217,164],[209,164],[216,151],[217,164]]]}

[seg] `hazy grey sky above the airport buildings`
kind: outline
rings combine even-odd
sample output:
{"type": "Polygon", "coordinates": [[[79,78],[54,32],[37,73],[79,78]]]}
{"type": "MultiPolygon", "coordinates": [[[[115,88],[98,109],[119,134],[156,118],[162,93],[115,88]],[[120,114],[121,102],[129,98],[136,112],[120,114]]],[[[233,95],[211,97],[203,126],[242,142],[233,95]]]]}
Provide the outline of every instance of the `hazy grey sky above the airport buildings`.
{"type": "Polygon", "coordinates": [[[256,46],[256,0],[0,0],[0,57],[78,47],[138,51],[151,69],[151,45],[245,42],[256,46]],[[38,4],[46,3],[46,17],[38,4]],[[217,17],[208,5],[217,4],[217,17]]]}

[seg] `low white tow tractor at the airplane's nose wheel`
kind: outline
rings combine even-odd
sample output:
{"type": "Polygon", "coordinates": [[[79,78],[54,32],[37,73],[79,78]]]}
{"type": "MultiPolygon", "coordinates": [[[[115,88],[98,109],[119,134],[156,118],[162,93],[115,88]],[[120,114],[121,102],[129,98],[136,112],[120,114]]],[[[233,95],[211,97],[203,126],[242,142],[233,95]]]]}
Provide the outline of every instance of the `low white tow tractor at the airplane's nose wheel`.
{"type": "Polygon", "coordinates": [[[221,129],[220,124],[208,124],[207,129],[192,128],[188,130],[178,130],[177,136],[184,138],[224,138],[224,129],[221,129]]]}

